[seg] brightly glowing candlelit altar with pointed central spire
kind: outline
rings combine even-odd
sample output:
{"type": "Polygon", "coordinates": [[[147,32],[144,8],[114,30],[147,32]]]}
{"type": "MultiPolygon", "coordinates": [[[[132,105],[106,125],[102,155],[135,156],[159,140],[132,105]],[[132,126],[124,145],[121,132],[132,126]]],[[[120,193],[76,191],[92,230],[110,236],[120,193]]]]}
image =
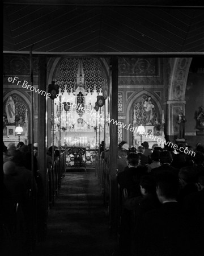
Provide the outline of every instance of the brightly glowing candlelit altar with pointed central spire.
{"type": "MultiPolygon", "coordinates": [[[[65,88],[59,87],[58,97],[54,99],[55,143],[59,145],[61,139],[61,146],[95,148],[99,144],[99,130],[100,141],[104,140],[104,123],[96,118],[95,110],[97,96],[103,96],[103,90],[96,89],[96,86],[92,89],[86,88],[81,61],[78,63],[75,88],[67,90],[68,87],[69,85],[65,85],[65,88]],[[82,108],[87,111],[82,111],[82,108]]],[[[100,108],[100,114],[105,116],[104,106],[100,108]]]]}

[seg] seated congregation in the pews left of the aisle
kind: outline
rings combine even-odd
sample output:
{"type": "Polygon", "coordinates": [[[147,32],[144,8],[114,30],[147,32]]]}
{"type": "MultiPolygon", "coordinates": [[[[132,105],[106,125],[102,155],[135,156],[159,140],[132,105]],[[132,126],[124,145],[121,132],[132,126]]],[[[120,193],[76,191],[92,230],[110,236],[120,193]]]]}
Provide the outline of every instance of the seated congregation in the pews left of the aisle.
{"type": "MultiPolygon", "coordinates": [[[[38,144],[33,144],[33,174],[31,144],[25,145],[19,142],[9,143],[6,147],[3,143],[3,169],[1,177],[2,188],[2,223],[10,236],[23,236],[23,250],[32,247],[32,216],[36,210],[33,201],[42,195],[39,189],[38,179],[38,144]],[[16,218],[20,221],[20,234],[16,233],[16,218]],[[22,228],[23,227],[23,228],[22,228]]],[[[49,148],[47,166],[52,164],[52,149],[49,148]]],[[[6,237],[3,239],[7,239],[6,237]]],[[[6,240],[7,241],[7,240],[6,240]]],[[[9,253],[9,252],[8,252],[9,253]]]]}

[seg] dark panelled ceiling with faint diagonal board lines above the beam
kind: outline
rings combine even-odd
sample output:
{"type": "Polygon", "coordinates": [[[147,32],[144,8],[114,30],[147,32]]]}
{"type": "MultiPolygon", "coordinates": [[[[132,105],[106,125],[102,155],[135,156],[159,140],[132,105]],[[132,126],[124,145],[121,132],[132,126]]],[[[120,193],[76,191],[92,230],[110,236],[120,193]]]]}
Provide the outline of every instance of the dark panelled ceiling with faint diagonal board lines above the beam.
{"type": "Polygon", "coordinates": [[[204,52],[204,9],[196,1],[19,2],[4,3],[4,52],[32,44],[47,53],[204,52]]]}

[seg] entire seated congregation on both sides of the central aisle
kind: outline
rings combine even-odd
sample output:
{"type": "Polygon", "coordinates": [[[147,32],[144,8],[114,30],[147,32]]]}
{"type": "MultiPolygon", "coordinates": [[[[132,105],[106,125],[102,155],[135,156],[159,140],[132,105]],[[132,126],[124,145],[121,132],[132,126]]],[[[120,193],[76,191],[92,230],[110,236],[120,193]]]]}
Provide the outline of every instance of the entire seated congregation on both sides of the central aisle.
{"type": "MultiPolygon", "coordinates": [[[[101,158],[108,164],[109,151],[101,158]]],[[[129,147],[118,144],[117,182],[120,256],[202,256],[204,238],[204,145],[191,147],[196,155],[161,148],[148,142],[129,147]]],[[[37,187],[37,143],[34,148],[34,180],[31,145],[3,144],[3,221],[12,232],[16,204],[25,220],[25,245],[31,230],[31,197],[37,187]],[[34,182],[33,182],[34,181],[34,182]]],[[[189,147],[190,148],[190,147],[189,147]]],[[[47,152],[47,166],[58,151],[47,152]]],[[[118,255],[119,256],[119,255],[118,255]]]]}

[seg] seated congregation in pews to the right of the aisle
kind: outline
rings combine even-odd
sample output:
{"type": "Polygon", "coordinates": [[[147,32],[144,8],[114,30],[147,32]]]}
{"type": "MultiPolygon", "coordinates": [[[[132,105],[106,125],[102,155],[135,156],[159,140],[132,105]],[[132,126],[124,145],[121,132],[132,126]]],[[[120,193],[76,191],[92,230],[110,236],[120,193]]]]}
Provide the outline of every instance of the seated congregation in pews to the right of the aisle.
{"type": "Polygon", "coordinates": [[[193,156],[147,144],[118,145],[120,255],[204,255],[204,145],[193,156]]]}

